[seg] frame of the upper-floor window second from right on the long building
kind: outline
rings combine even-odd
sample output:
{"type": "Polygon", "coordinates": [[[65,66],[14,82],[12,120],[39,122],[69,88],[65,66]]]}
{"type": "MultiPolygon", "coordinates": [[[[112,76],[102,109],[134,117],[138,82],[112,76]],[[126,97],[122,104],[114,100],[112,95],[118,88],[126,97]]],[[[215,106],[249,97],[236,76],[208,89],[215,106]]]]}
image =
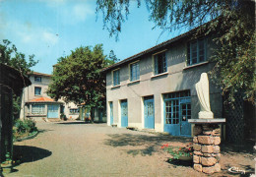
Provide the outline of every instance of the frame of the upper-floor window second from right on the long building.
{"type": "MultiPolygon", "coordinates": [[[[153,59],[153,74],[154,74],[154,76],[158,76],[158,75],[162,75],[162,74],[168,73],[167,53],[166,53],[166,51],[167,51],[167,49],[164,49],[164,50],[161,50],[158,53],[153,54],[152,59],[153,59]],[[156,57],[160,56],[162,54],[164,54],[165,64],[164,63],[162,64],[163,68],[162,68],[162,72],[160,73],[159,72],[160,69],[159,69],[159,65],[158,65],[159,62],[158,63],[156,62],[156,57]],[[157,71],[157,67],[158,67],[158,72],[156,72],[157,71]],[[164,68],[165,68],[165,71],[164,71],[164,68]]],[[[158,58],[158,60],[159,60],[159,58],[158,58]]]]}

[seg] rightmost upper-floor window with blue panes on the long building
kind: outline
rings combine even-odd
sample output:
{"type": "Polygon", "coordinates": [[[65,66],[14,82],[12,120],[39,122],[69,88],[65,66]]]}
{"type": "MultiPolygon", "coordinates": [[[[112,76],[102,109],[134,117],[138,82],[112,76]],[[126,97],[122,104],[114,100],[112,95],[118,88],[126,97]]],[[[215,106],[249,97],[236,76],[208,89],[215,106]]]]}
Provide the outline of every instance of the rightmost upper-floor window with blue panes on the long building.
{"type": "Polygon", "coordinates": [[[198,39],[188,43],[187,65],[194,65],[206,61],[206,42],[205,39],[198,39]]]}

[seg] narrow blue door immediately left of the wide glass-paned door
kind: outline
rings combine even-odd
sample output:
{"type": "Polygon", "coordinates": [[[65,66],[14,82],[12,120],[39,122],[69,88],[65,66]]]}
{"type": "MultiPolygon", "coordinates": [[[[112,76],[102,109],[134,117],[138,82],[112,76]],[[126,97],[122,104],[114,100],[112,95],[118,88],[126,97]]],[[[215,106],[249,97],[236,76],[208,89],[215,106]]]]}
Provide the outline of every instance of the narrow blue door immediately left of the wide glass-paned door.
{"type": "Polygon", "coordinates": [[[155,129],[155,108],[153,96],[144,98],[144,127],[146,129],[155,129]]]}

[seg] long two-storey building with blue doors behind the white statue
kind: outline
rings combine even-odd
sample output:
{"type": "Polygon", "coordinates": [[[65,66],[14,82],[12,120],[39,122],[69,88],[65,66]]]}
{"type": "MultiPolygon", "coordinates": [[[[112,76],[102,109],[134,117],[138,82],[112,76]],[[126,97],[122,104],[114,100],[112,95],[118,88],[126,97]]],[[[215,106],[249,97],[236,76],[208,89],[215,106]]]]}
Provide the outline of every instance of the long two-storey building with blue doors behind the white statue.
{"type": "MultiPolygon", "coordinates": [[[[188,119],[198,118],[195,89],[209,62],[211,36],[192,39],[183,33],[124,59],[101,72],[106,75],[107,124],[136,127],[173,136],[191,136],[188,119]]],[[[210,81],[211,109],[223,117],[221,89],[210,81]]]]}

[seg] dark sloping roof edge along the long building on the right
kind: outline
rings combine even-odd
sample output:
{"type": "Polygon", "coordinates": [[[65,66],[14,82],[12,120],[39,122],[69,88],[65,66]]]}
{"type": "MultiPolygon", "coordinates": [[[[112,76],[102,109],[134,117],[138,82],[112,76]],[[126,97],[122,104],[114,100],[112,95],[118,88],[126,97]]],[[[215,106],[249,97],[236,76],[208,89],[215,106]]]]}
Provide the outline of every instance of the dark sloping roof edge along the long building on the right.
{"type": "Polygon", "coordinates": [[[189,30],[189,31],[187,31],[187,32],[185,32],[185,33],[182,33],[182,34],[180,34],[180,35],[177,35],[177,36],[175,36],[175,37],[173,37],[173,38],[171,38],[171,39],[169,39],[169,40],[163,41],[163,42],[161,42],[160,44],[158,44],[158,45],[156,45],[156,46],[153,46],[153,47],[151,47],[151,48],[149,48],[149,49],[147,49],[147,50],[144,50],[144,51],[142,51],[142,52],[140,52],[140,53],[137,53],[137,54],[135,54],[135,55],[133,55],[133,56],[131,56],[131,57],[129,57],[129,58],[126,58],[126,59],[124,59],[124,60],[122,60],[122,61],[120,61],[120,62],[118,62],[118,63],[115,63],[115,64],[113,64],[113,65],[111,65],[111,66],[109,66],[109,67],[103,68],[103,69],[101,70],[101,72],[106,72],[106,71],[108,71],[108,70],[110,70],[110,69],[113,69],[113,68],[115,68],[115,67],[117,67],[117,66],[119,66],[119,65],[122,65],[122,64],[124,64],[124,63],[128,63],[128,62],[134,61],[134,60],[138,59],[139,57],[141,57],[141,56],[143,56],[143,55],[146,55],[146,54],[148,54],[148,53],[150,53],[150,52],[153,52],[153,51],[155,51],[155,50],[160,49],[161,47],[164,47],[164,46],[169,45],[169,44],[171,44],[171,43],[173,43],[173,42],[176,42],[176,41],[178,41],[178,40],[181,40],[181,39],[183,39],[183,38],[185,38],[185,37],[191,35],[192,33],[194,33],[194,32],[196,31],[196,29],[198,29],[198,28],[191,29],[191,30],[189,30]]]}

